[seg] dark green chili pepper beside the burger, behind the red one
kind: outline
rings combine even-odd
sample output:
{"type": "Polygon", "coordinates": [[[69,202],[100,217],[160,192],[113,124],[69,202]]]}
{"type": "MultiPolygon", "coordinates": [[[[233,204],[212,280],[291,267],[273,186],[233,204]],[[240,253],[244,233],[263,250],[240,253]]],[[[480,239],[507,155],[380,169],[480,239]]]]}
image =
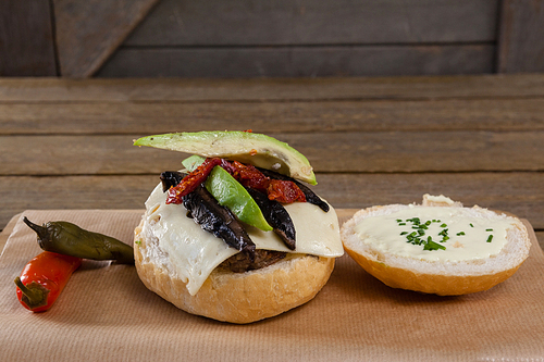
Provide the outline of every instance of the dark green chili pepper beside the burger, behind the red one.
{"type": "Polygon", "coordinates": [[[92,259],[115,260],[120,264],[134,264],[134,249],[110,236],[92,233],[69,222],[48,222],[44,226],[23,221],[38,234],[41,249],[60,254],[92,259]]]}

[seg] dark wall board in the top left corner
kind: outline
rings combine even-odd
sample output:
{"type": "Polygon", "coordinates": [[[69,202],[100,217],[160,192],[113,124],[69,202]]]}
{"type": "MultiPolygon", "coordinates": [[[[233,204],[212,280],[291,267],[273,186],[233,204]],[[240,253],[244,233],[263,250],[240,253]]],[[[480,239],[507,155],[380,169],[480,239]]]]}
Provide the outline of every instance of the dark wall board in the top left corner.
{"type": "Polygon", "coordinates": [[[0,76],[55,76],[48,0],[0,1],[0,76]]]}

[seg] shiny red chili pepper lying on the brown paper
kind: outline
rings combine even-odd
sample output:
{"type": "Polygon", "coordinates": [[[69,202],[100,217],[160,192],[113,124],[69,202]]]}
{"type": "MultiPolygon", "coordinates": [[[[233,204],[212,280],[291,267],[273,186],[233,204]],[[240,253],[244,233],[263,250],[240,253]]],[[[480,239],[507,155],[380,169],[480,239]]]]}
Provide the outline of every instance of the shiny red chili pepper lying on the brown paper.
{"type": "Polygon", "coordinates": [[[33,312],[47,311],[81,264],[81,258],[44,251],[15,278],[18,301],[33,312]]]}

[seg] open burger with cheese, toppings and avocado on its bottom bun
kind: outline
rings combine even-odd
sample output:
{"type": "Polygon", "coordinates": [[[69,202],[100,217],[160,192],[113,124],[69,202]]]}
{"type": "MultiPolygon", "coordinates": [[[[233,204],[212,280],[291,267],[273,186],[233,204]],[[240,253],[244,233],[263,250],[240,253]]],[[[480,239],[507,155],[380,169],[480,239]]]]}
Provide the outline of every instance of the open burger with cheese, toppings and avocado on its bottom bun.
{"type": "Polygon", "coordinates": [[[177,308],[251,323],[299,307],[344,253],[334,209],[308,160],[251,132],[148,136],[135,146],[190,157],[165,171],[135,229],[144,285],[177,308]]]}

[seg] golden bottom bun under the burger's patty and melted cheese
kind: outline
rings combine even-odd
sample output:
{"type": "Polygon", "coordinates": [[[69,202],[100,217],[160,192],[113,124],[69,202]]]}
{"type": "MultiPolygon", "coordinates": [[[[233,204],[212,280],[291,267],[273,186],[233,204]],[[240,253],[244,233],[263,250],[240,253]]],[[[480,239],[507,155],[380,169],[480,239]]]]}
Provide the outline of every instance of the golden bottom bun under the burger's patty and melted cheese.
{"type": "Polygon", "coordinates": [[[301,305],[316,297],[334,269],[334,258],[288,254],[275,264],[245,273],[215,269],[191,296],[186,283],[171,271],[144,260],[141,249],[157,246],[147,242],[141,226],[135,229],[134,257],[144,285],[188,313],[218,321],[251,323],[301,305]]]}

